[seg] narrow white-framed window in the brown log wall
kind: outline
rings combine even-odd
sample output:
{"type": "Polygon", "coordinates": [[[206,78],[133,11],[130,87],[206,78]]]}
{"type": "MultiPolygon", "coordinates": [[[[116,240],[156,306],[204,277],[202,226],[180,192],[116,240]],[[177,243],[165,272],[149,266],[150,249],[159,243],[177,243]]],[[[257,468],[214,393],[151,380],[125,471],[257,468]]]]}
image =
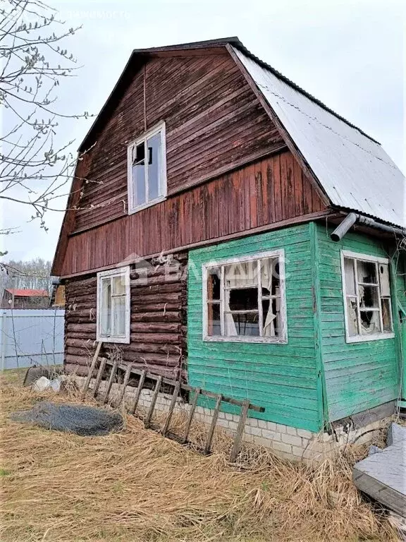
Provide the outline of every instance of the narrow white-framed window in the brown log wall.
{"type": "Polygon", "coordinates": [[[130,342],[130,268],[97,274],[97,340],[130,342]]]}

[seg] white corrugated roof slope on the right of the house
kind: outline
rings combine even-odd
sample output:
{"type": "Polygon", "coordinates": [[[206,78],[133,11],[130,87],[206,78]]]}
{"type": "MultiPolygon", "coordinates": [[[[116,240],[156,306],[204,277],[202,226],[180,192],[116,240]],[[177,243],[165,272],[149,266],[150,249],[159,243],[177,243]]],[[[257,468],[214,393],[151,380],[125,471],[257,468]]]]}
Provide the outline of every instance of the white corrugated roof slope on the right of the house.
{"type": "Polygon", "coordinates": [[[331,203],[406,227],[405,176],[381,145],[234,50],[331,203]]]}

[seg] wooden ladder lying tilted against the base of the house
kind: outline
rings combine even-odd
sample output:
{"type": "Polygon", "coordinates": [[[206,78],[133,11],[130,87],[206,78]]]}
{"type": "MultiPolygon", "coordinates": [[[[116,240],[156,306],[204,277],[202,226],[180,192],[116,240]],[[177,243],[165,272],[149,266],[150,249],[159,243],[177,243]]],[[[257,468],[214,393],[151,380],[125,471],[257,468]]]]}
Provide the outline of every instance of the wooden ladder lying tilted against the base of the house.
{"type": "MultiPolygon", "coordinates": [[[[85,386],[82,390],[82,398],[85,398],[87,390],[90,386],[90,381],[92,379],[92,375],[94,373],[94,370],[97,366],[98,356],[101,348],[101,342],[97,345],[96,352],[94,354],[94,357],[92,359],[92,365],[90,366],[89,374],[87,375],[87,378],[85,380],[85,386]]],[[[139,381],[137,386],[137,391],[135,392],[135,399],[133,400],[133,404],[130,406],[130,414],[134,414],[137,416],[137,406],[138,402],[140,401],[140,396],[142,389],[144,387],[145,380],[152,380],[155,382],[154,390],[152,392],[152,399],[151,403],[149,405],[149,409],[147,411],[147,415],[143,418],[144,419],[144,426],[146,428],[152,428],[154,430],[159,431],[164,437],[171,438],[172,440],[176,440],[176,442],[179,442],[182,445],[191,445],[192,442],[189,440],[189,432],[190,432],[190,426],[192,425],[193,416],[195,414],[196,406],[197,406],[197,400],[199,397],[208,397],[209,399],[214,399],[216,401],[216,406],[214,407],[213,414],[211,416],[211,423],[209,425],[209,430],[207,433],[207,438],[205,445],[202,449],[198,450],[204,454],[209,454],[211,451],[211,442],[213,440],[214,436],[214,429],[216,428],[217,419],[219,418],[219,411],[221,409],[221,403],[228,403],[232,404],[234,406],[240,406],[240,419],[238,421],[237,430],[235,431],[235,437],[233,441],[233,446],[231,447],[230,451],[230,462],[234,463],[235,460],[238,457],[238,453],[240,452],[241,447],[241,441],[242,441],[242,435],[244,433],[245,428],[245,422],[247,421],[248,411],[256,411],[256,412],[264,412],[265,409],[263,406],[257,406],[255,404],[250,403],[250,401],[240,401],[238,399],[234,399],[233,397],[226,397],[226,395],[216,394],[213,392],[208,392],[207,390],[202,390],[199,387],[192,387],[187,384],[183,384],[180,382],[180,380],[170,380],[169,378],[164,378],[163,376],[155,375],[154,373],[149,373],[147,369],[137,369],[134,368],[131,364],[124,364],[124,363],[118,363],[117,361],[109,361],[106,358],[100,358],[99,359],[99,367],[97,371],[97,376],[95,379],[94,387],[92,388],[92,395],[94,397],[97,397],[97,392],[99,390],[99,385],[101,383],[101,380],[104,377],[104,373],[106,373],[107,368],[111,368],[110,374],[109,374],[109,380],[107,381],[106,389],[104,390],[103,397],[101,397],[101,402],[106,404],[109,402],[109,395],[111,393],[111,388],[113,385],[114,378],[116,377],[116,373],[118,370],[124,371],[124,378],[123,383],[121,384],[121,390],[118,394],[118,401],[116,402],[115,406],[121,406],[123,404],[124,396],[125,396],[125,388],[128,385],[128,381],[130,380],[131,375],[138,375],[139,381]],[[166,415],[166,419],[164,421],[164,425],[162,427],[155,426],[152,423],[152,416],[154,415],[154,409],[156,405],[156,399],[158,399],[158,394],[161,391],[161,386],[166,385],[168,387],[173,387],[173,393],[171,397],[171,402],[169,404],[168,408],[168,414],[166,415]],[[190,402],[190,409],[187,415],[187,420],[185,424],[185,430],[183,435],[176,435],[175,433],[171,433],[169,430],[169,426],[171,423],[171,418],[173,416],[173,411],[175,410],[176,406],[176,399],[178,399],[178,396],[180,392],[189,392],[193,395],[193,399],[190,402]]]]}

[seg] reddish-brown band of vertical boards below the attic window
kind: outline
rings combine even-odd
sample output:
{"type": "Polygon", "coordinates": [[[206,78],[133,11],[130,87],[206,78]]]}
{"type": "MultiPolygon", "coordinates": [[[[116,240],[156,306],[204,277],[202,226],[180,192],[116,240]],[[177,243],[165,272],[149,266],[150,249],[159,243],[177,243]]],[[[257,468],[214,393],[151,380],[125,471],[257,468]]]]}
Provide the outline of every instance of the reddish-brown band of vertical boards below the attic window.
{"type": "Polygon", "coordinates": [[[61,276],[324,209],[290,152],[266,157],[153,207],[70,236],[61,276]]]}

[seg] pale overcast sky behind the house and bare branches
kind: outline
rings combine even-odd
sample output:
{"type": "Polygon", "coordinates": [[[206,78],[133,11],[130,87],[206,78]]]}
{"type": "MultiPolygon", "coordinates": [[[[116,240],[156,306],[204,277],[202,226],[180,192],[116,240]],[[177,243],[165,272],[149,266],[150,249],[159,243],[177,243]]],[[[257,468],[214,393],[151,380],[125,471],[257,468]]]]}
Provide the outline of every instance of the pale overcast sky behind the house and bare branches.
{"type": "MultiPolygon", "coordinates": [[[[59,110],[97,114],[133,49],[237,35],[245,46],[336,112],[379,140],[406,171],[404,0],[49,0],[68,26],[66,42],[83,67],[61,83],[59,110]]],[[[63,125],[73,150],[92,121],[63,125]]],[[[61,134],[60,134],[61,135],[61,134]]],[[[63,206],[63,201],[61,201],[63,206]]],[[[31,212],[0,209],[9,259],[52,259],[61,212],[48,233],[31,212]]],[[[1,249],[1,245],[0,245],[1,249]]]]}

